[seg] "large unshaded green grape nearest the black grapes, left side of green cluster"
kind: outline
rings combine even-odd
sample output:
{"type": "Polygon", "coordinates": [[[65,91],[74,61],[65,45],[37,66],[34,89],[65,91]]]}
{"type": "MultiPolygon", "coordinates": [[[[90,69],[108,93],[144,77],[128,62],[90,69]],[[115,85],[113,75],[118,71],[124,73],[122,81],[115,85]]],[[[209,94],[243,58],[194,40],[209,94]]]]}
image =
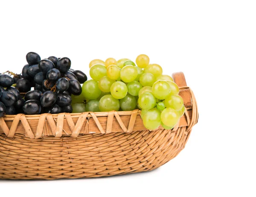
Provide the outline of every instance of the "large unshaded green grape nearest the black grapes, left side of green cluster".
{"type": "Polygon", "coordinates": [[[100,96],[101,90],[99,89],[98,82],[91,79],[84,82],[82,87],[82,94],[86,99],[96,99],[100,96]]]}

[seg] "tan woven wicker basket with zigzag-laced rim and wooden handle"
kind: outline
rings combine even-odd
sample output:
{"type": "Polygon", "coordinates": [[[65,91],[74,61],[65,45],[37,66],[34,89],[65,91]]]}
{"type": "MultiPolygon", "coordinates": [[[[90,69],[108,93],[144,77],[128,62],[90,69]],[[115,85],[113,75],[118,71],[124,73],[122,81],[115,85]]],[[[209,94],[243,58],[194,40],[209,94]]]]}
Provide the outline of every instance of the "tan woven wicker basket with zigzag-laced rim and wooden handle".
{"type": "Polygon", "coordinates": [[[103,177],[162,166],[184,148],[198,121],[183,73],[173,78],[186,110],[172,130],[147,130],[139,110],[0,118],[0,179],[103,177]]]}

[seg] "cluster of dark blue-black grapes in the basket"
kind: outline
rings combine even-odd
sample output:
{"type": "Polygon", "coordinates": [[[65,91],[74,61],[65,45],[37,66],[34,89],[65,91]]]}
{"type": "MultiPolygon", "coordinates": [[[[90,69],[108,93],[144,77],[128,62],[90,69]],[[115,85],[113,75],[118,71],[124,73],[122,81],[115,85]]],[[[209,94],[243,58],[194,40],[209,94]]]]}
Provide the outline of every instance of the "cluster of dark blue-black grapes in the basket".
{"type": "Polygon", "coordinates": [[[71,70],[67,57],[41,60],[37,53],[30,52],[26,60],[28,64],[21,74],[0,74],[0,117],[17,113],[72,113],[71,95],[81,94],[81,84],[87,76],[80,70],[71,70]]]}

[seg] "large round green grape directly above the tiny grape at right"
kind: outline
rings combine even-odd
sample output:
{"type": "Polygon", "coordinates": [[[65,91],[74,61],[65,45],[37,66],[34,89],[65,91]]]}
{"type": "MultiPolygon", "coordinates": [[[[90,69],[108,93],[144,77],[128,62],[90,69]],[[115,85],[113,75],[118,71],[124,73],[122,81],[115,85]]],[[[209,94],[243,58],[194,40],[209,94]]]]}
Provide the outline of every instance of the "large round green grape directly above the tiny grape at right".
{"type": "Polygon", "coordinates": [[[154,84],[152,85],[153,95],[160,100],[165,99],[170,94],[170,92],[171,92],[171,87],[169,83],[166,81],[160,80],[160,81],[154,82],[154,84]]]}

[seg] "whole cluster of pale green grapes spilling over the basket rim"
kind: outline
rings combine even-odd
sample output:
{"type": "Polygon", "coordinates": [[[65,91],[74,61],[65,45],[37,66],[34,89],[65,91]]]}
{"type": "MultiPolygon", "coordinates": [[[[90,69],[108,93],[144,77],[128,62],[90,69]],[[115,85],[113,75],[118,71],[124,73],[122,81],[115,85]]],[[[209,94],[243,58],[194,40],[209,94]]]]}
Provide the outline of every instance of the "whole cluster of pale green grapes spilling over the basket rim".
{"type": "Polygon", "coordinates": [[[179,87],[160,65],[149,64],[148,56],[137,56],[136,64],[130,59],[91,61],[92,79],[84,82],[80,96],[72,97],[73,113],[139,108],[147,129],[175,127],[185,112],[179,87]]]}

